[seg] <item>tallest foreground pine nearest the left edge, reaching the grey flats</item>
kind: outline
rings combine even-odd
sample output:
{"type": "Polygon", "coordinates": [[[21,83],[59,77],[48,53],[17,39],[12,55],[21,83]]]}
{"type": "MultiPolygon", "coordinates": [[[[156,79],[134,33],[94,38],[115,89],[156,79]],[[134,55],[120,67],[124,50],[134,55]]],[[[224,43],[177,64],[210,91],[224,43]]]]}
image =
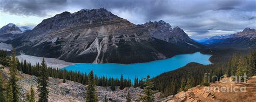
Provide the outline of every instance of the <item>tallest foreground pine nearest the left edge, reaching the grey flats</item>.
{"type": "Polygon", "coordinates": [[[17,85],[17,60],[15,57],[15,50],[12,50],[12,57],[9,62],[10,64],[10,78],[8,80],[8,101],[19,101],[19,87],[17,85]],[[11,96],[12,95],[12,96],[11,96]]]}

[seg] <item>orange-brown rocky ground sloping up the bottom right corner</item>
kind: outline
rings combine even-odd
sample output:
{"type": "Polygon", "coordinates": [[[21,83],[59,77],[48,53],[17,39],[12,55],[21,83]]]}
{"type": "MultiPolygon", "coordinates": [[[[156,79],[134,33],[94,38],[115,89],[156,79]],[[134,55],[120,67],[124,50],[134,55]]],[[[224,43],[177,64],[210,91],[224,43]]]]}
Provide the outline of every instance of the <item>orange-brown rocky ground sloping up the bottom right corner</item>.
{"type": "Polygon", "coordinates": [[[246,83],[235,83],[231,78],[223,78],[222,81],[218,81],[218,83],[212,83],[210,86],[198,85],[188,89],[188,91],[179,92],[174,96],[169,96],[167,98],[161,99],[160,101],[176,102],[255,100],[256,76],[248,79],[246,83]]]}

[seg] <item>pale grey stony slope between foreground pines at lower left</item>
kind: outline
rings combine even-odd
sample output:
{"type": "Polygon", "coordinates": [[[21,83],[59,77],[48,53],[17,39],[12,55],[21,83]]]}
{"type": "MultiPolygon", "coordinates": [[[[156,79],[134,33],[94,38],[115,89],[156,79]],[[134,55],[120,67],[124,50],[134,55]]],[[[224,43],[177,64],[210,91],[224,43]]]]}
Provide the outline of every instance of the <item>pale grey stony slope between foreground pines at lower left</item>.
{"type": "MultiPolygon", "coordinates": [[[[1,69],[4,79],[9,78],[9,68],[5,67],[1,69]]],[[[32,85],[35,90],[36,100],[37,96],[37,77],[24,74],[22,72],[18,73],[18,85],[20,87],[20,98],[24,101],[26,98],[26,93],[30,91],[32,85]]],[[[49,100],[50,101],[85,101],[86,98],[86,86],[80,83],[66,80],[66,83],[62,83],[63,79],[49,78],[49,100]]],[[[110,87],[100,87],[97,86],[98,99],[104,100],[105,97],[109,100],[115,101],[125,101],[127,92],[131,93],[132,100],[138,100],[138,94],[143,93],[143,89],[140,88],[125,88],[124,90],[119,90],[119,87],[116,87],[116,91],[111,91],[110,87]]],[[[159,99],[160,93],[156,93],[156,99],[159,99]]]]}

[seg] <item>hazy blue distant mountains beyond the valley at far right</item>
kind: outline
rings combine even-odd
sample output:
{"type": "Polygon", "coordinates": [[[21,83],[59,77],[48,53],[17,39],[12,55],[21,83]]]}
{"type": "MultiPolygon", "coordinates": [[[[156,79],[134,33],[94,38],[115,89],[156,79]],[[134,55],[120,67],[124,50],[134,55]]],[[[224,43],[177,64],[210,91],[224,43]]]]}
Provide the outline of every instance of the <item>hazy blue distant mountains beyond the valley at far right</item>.
{"type": "Polygon", "coordinates": [[[255,49],[256,48],[256,30],[245,28],[243,31],[227,36],[213,36],[197,40],[197,42],[206,46],[218,49],[255,49]]]}

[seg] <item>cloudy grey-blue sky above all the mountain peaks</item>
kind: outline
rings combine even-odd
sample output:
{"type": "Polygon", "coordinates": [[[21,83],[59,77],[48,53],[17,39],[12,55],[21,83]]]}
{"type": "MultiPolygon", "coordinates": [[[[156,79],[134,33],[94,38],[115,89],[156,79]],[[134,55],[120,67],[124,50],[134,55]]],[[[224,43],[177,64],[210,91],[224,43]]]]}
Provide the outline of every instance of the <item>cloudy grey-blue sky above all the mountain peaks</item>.
{"type": "Polygon", "coordinates": [[[135,24],[163,19],[195,39],[256,28],[255,0],[0,0],[0,13],[10,16],[43,19],[84,8],[106,8],[135,24]]]}

